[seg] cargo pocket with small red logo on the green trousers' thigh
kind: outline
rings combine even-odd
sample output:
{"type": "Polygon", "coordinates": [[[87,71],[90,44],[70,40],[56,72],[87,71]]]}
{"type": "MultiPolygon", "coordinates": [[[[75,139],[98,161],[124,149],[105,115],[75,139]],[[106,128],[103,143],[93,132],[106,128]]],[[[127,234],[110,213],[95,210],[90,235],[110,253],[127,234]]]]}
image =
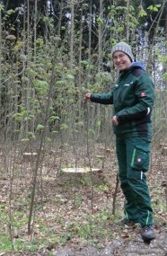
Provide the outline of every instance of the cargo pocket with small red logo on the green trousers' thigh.
{"type": "Polygon", "coordinates": [[[131,167],[136,171],[147,172],[150,162],[150,146],[137,145],[134,148],[131,167]]]}

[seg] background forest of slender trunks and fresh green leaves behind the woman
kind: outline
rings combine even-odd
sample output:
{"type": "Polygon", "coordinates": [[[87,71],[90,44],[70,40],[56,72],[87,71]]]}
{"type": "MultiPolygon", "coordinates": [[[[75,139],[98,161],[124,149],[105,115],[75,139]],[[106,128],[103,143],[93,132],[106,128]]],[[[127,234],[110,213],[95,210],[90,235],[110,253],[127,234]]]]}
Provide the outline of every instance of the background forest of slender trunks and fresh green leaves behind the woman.
{"type": "MultiPolygon", "coordinates": [[[[75,130],[84,136],[84,93],[108,91],[114,84],[110,50],[119,40],[131,44],[154,78],[154,135],[162,135],[166,1],[18,0],[1,1],[0,9],[2,143],[36,142],[43,129],[48,140],[63,133],[63,143],[75,130]]],[[[96,137],[110,119],[107,111],[89,109],[89,128],[96,137]]]]}

